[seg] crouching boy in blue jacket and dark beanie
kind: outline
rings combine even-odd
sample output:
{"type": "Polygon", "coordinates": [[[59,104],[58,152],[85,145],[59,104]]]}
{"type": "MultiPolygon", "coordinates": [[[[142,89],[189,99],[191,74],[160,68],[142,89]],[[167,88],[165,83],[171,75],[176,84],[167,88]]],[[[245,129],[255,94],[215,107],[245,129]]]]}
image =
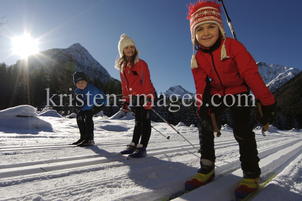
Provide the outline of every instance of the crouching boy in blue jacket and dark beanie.
{"type": "Polygon", "coordinates": [[[73,74],[73,82],[77,88],[72,99],[72,106],[80,110],[76,115],[80,139],[70,145],[76,145],[77,147],[94,146],[92,116],[104,110],[107,105],[107,98],[98,88],[87,83],[83,71],[76,71],[73,74]]]}

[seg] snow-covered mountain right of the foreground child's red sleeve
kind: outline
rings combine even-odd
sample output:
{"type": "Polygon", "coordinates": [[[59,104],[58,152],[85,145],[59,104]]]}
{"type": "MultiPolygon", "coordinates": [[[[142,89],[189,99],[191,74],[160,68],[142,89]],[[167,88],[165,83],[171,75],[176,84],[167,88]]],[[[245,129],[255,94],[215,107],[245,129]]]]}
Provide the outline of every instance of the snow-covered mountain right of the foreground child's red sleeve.
{"type": "Polygon", "coordinates": [[[301,72],[300,69],[289,68],[284,65],[271,64],[269,66],[263,62],[257,62],[257,65],[264,83],[271,92],[276,91],[277,88],[280,88],[285,82],[301,72]]]}

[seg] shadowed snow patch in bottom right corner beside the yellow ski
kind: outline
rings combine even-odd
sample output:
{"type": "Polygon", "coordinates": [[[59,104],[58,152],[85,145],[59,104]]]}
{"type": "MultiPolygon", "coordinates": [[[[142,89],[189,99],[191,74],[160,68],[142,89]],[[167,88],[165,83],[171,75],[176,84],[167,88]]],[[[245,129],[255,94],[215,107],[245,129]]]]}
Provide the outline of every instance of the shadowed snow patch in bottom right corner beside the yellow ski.
{"type": "MultiPolygon", "coordinates": [[[[276,201],[276,200],[302,200],[302,195],[290,191],[280,183],[269,183],[260,193],[257,195],[258,201],[276,201]]],[[[296,189],[297,191],[297,189],[296,189]]],[[[302,193],[302,192],[300,192],[302,193]]]]}

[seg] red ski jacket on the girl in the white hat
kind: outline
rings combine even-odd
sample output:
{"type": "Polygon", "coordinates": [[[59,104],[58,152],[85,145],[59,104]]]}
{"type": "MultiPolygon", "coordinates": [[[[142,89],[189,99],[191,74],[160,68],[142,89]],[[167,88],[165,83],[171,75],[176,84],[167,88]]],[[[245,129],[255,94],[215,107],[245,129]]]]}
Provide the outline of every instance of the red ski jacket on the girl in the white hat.
{"type": "MultiPolygon", "coordinates": [[[[128,59],[129,61],[130,59],[128,59]]],[[[137,94],[153,94],[155,89],[150,80],[150,72],[145,61],[140,59],[135,65],[129,67],[127,62],[123,73],[120,71],[120,82],[122,84],[123,96],[137,94]]]]}

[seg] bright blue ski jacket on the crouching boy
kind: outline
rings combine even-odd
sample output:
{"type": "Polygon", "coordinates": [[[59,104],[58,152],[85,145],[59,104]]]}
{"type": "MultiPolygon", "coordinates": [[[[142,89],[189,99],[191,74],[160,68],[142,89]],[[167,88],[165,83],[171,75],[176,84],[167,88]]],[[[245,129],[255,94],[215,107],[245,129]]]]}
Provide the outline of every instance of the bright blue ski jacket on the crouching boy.
{"type": "Polygon", "coordinates": [[[101,104],[107,105],[107,97],[106,97],[106,95],[101,90],[99,90],[98,88],[96,88],[93,85],[90,85],[89,83],[87,83],[87,86],[85,87],[85,89],[81,90],[79,88],[76,88],[75,94],[76,93],[83,94],[82,100],[84,101],[84,105],[83,105],[82,110],[90,110],[90,109],[92,109],[95,106],[94,102],[93,102],[94,98],[96,98],[95,99],[95,103],[97,103],[99,105],[101,105],[101,104]],[[89,102],[87,101],[88,92],[90,94],[89,95],[89,102]],[[101,98],[101,96],[99,94],[101,94],[103,96],[102,99],[97,99],[97,98],[101,98]],[[90,106],[88,106],[88,104],[90,106]]]}

